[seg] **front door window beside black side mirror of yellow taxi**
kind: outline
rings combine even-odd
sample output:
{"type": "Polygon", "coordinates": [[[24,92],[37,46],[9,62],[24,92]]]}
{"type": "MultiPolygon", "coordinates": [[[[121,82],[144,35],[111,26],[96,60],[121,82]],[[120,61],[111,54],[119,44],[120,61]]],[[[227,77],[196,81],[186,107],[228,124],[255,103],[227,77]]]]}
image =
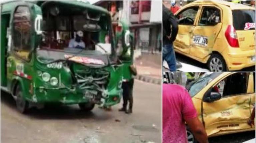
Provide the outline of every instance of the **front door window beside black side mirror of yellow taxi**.
{"type": "Polygon", "coordinates": [[[246,72],[238,72],[220,81],[212,90],[219,92],[222,97],[246,94],[247,80],[246,72]]]}

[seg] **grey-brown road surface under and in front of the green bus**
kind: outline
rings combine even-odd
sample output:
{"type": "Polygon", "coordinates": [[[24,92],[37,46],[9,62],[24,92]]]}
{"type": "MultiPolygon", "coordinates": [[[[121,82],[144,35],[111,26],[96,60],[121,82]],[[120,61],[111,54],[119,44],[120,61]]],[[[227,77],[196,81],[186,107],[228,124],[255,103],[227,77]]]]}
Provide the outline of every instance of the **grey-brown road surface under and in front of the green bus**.
{"type": "Polygon", "coordinates": [[[134,108],[119,112],[121,104],[89,113],[78,105],[16,110],[11,95],[1,91],[2,143],[147,143],[161,142],[161,86],[135,80],[134,108]]]}

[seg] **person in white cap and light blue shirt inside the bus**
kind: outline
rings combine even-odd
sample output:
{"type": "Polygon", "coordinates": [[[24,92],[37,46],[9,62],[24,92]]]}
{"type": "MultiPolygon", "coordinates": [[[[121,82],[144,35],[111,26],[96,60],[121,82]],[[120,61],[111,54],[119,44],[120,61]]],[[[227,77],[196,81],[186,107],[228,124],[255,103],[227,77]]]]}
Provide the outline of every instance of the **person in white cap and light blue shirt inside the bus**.
{"type": "Polygon", "coordinates": [[[78,48],[78,49],[84,49],[85,44],[82,41],[82,37],[84,36],[84,33],[82,31],[77,31],[76,36],[74,39],[71,39],[68,44],[68,48],[78,48]]]}

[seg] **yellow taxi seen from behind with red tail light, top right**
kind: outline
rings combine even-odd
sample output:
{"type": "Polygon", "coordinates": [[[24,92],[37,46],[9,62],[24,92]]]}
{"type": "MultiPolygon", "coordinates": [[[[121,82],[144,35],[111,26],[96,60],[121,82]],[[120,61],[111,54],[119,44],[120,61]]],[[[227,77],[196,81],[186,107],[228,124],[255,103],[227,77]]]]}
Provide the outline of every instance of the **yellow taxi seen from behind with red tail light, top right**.
{"type": "Polygon", "coordinates": [[[175,52],[210,71],[255,65],[255,8],[226,1],[195,1],[175,13],[175,52]]]}

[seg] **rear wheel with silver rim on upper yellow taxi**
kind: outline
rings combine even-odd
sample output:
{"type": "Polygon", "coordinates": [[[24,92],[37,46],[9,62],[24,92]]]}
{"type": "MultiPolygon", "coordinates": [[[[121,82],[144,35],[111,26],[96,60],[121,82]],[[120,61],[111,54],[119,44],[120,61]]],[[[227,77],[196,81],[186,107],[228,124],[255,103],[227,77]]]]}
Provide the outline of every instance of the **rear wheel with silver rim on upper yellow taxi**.
{"type": "Polygon", "coordinates": [[[225,60],[219,54],[212,54],[207,62],[210,71],[226,71],[225,60]]]}

